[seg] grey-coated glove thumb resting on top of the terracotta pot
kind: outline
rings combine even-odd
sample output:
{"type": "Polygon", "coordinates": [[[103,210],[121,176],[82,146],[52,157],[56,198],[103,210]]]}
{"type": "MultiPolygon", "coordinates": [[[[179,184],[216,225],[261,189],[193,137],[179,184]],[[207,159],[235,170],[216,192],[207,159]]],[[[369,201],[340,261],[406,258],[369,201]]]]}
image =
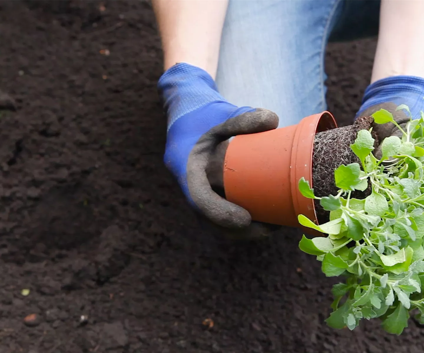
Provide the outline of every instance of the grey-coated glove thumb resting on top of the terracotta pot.
{"type": "Polygon", "coordinates": [[[237,115],[211,129],[210,133],[228,139],[236,135],[258,133],[273,130],[278,127],[278,116],[274,112],[257,108],[254,111],[237,115]]]}

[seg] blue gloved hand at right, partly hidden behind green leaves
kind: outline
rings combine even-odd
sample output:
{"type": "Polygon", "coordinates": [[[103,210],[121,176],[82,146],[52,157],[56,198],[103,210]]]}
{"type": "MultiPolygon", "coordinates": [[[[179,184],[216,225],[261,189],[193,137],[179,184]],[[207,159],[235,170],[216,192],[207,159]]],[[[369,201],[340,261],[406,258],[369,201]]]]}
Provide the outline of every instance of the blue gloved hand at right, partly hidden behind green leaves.
{"type": "MultiPolygon", "coordinates": [[[[401,104],[408,106],[413,119],[421,117],[421,111],[424,111],[424,78],[393,76],[371,83],[365,89],[362,106],[355,118],[371,116],[379,109],[385,109],[393,114],[394,120],[403,128],[410,120],[410,115],[404,109],[396,111],[401,104]]],[[[380,143],[388,136],[402,137],[402,132],[391,122],[373,124],[373,130],[377,133],[380,143]]],[[[380,146],[375,155],[381,156],[380,146]]]]}

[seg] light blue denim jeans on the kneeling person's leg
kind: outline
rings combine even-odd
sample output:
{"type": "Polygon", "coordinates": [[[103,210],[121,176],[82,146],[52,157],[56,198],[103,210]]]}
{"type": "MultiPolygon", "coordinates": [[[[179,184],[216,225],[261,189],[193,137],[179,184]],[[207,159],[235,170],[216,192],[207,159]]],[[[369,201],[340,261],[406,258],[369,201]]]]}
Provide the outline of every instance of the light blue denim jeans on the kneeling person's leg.
{"type": "Polygon", "coordinates": [[[380,0],[230,0],[220,93],[274,111],[279,127],[326,110],[326,44],[376,35],[379,8],[380,0]]]}

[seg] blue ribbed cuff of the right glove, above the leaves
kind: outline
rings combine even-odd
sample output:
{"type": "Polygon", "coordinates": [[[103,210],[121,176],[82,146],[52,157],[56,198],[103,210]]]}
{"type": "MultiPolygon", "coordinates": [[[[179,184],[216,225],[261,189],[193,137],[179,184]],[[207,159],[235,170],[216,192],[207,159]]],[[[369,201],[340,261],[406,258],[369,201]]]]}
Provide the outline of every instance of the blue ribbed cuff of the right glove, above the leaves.
{"type": "Polygon", "coordinates": [[[424,78],[392,76],[371,83],[365,89],[356,117],[371,106],[389,102],[396,106],[406,104],[414,119],[420,117],[421,110],[424,110],[424,78]]]}

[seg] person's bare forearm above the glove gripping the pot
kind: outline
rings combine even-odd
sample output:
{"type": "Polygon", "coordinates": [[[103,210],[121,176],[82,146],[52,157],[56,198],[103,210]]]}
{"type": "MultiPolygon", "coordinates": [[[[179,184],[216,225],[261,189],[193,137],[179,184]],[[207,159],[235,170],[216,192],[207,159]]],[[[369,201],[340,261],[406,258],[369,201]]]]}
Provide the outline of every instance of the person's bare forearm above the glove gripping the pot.
{"type": "Polygon", "coordinates": [[[228,0],[153,0],[164,69],[185,62],[215,78],[228,0]]]}

